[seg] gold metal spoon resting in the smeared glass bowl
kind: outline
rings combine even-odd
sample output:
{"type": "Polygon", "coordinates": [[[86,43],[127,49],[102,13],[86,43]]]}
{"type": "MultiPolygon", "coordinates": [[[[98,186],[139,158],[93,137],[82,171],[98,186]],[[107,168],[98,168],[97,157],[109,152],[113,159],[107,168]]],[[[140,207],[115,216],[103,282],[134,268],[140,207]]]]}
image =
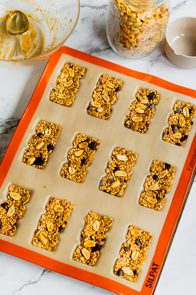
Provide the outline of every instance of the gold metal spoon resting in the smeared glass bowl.
{"type": "Polygon", "coordinates": [[[7,32],[10,35],[16,36],[16,43],[15,43],[14,52],[12,54],[11,60],[25,59],[20,46],[20,35],[25,34],[28,29],[29,29],[29,21],[26,15],[19,10],[12,11],[6,21],[7,32]]]}

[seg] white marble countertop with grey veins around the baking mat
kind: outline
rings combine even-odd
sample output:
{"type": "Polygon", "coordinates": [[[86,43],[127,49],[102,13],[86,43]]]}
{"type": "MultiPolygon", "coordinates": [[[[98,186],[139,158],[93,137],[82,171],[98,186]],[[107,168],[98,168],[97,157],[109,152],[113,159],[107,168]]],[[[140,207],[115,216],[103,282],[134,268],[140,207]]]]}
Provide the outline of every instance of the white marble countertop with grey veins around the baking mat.
{"type": "MultiPolygon", "coordinates": [[[[105,29],[107,0],[81,0],[80,4],[78,24],[66,41],[66,46],[196,90],[196,68],[183,69],[172,64],[164,53],[163,42],[151,55],[140,60],[127,60],[112,51],[107,42],[105,29]]],[[[195,17],[195,0],[174,0],[172,4],[169,22],[182,16],[195,17]]],[[[3,156],[6,151],[47,61],[47,59],[41,60],[34,66],[22,69],[3,68],[0,64],[0,156],[3,156]]],[[[195,190],[196,181],[192,185],[155,295],[194,294],[196,274],[195,190]]],[[[63,276],[2,252],[0,252],[0,286],[2,295],[112,294],[110,291],[63,276]]]]}

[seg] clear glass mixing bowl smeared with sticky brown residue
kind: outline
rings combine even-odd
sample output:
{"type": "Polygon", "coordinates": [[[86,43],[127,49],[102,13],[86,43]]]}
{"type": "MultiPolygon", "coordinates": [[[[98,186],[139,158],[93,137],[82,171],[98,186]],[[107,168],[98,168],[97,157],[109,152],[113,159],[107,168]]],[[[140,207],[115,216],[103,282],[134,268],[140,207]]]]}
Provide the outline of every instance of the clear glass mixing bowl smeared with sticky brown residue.
{"type": "Polygon", "coordinates": [[[73,32],[79,17],[79,0],[8,0],[0,3],[0,61],[21,63],[49,57],[73,32]],[[15,36],[6,32],[11,11],[24,12],[29,30],[20,35],[25,60],[13,61],[15,36]]]}

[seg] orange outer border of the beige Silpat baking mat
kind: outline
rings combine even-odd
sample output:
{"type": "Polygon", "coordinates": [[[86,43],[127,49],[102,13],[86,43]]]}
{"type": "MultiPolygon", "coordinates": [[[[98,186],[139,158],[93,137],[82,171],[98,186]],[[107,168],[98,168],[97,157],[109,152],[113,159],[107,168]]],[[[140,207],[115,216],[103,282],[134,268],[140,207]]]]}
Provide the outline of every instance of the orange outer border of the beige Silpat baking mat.
{"type": "MultiPolygon", "coordinates": [[[[155,84],[160,87],[164,87],[165,89],[175,91],[181,94],[185,94],[188,96],[192,96],[193,98],[196,98],[196,91],[192,89],[188,89],[182,86],[175,85],[173,83],[167,82],[165,80],[162,80],[160,78],[139,73],[133,70],[130,70],[128,68],[124,68],[120,65],[116,65],[114,63],[110,63],[109,61],[102,60],[100,58],[94,57],[92,55],[88,55],[86,53],[80,52],[78,50],[74,50],[72,48],[63,46],[59,50],[57,50],[49,59],[49,62],[46,65],[46,68],[44,69],[43,74],[41,75],[41,78],[37,84],[37,87],[34,91],[34,94],[18,124],[18,127],[16,128],[16,131],[14,132],[14,135],[11,139],[11,142],[6,150],[6,153],[4,155],[4,158],[2,160],[2,163],[0,165],[0,187],[3,183],[3,181],[6,178],[6,175],[9,171],[9,168],[14,160],[14,157],[17,153],[17,150],[20,146],[20,143],[25,135],[25,132],[31,122],[31,119],[39,105],[39,102],[44,94],[44,91],[46,89],[47,83],[62,55],[62,53],[65,53],[67,55],[73,56],[75,58],[79,58],[81,60],[87,61],[89,63],[99,65],[105,68],[108,68],[110,70],[122,73],[124,75],[137,78],[142,81],[150,82],[152,84],[155,84]]],[[[135,291],[134,289],[131,289],[127,286],[124,286],[121,283],[115,282],[109,278],[105,278],[103,276],[99,276],[95,273],[91,273],[90,271],[85,271],[83,269],[70,266],[68,264],[59,262],[57,260],[54,260],[52,258],[49,258],[45,255],[36,253],[34,251],[28,250],[26,248],[20,247],[18,245],[15,245],[13,243],[1,240],[0,243],[0,250],[11,254],[13,256],[16,256],[18,258],[27,260],[29,262],[35,263],[39,266],[42,266],[44,268],[49,268],[52,271],[56,271],[58,273],[62,273],[66,276],[70,276],[72,278],[76,278],[78,280],[90,283],[92,285],[110,290],[114,293],[117,293],[119,295],[151,295],[155,283],[157,281],[158,274],[160,272],[167,247],[169,245],[170,239],[172,237],[172,233],[175,229],[175,225],[177,222],[177,219],[180,214],[180,210],[182,208],[185,195],[195,168],[195,164],[192,167],[192,170],[187,170],[187,165],[192,158],[192,154],[194,153],[196,149],[196,134],[192,141],[192,145],[190,148],[190,151],[188,153],[184,168],[182,170],[182,174],[180,177],[180,181],[178,183],[177,189],[175,191],[172,204],[170,206],[169,212],[167,214],[167,218],[165,220],[165,224],[162,228],[162,232],[157,244],[157,248],[155,251],[154,258],[152,260],[151,266],[149,268],[149,272],[146,276],[146,279],[144,281],[144,284],[142,286],[141,292],[135,291]],[[148,286],[147,286],[148,285],[148,286]],[[151,285],[151,286],[150,286],[151,285]]]]}

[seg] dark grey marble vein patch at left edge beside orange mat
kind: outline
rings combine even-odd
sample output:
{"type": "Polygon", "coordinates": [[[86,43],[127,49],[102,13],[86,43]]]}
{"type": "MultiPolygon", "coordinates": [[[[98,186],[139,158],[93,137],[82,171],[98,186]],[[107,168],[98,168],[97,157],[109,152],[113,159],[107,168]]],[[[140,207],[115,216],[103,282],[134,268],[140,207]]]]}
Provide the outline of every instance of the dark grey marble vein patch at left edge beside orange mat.
{"type": "Polygon", "coordinates": [[[0,155],[4,156],[9,142],[18,126],[19,118],[0,119],[0,155]]]}

